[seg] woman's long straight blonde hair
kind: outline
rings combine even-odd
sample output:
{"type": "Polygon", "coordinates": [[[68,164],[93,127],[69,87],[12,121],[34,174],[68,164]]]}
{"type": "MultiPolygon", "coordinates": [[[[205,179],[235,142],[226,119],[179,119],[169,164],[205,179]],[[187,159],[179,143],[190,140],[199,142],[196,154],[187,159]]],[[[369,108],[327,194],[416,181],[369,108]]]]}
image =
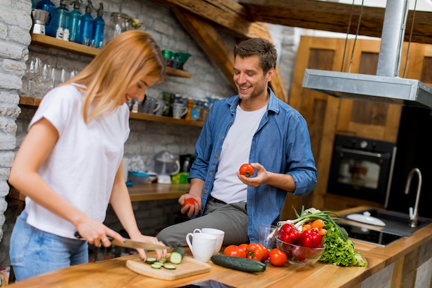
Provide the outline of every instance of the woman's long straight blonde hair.
{"type": "Polygon", "coordinates": [[[162,81],[164,74],[164,57],[155,39],[147,32],[129,30],[110,39],[81,73],[64,84],[79,84],[88,123],[115,111],[130,84],[146,76],[162,81]]]}

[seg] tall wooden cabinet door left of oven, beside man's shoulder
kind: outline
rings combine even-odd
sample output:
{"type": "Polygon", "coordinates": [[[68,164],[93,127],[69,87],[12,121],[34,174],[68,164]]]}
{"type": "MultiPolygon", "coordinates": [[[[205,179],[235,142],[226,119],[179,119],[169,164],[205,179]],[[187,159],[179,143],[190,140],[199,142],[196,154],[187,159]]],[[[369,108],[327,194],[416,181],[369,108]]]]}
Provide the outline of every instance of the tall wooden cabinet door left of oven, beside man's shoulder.
{"type": "Polygon", "coordinates": [[[318,186],[313,193],[298,197],[288,194],[282,219],[295,216],[292,207],[300,211],[302,205],[308,207],[322,207],[330,169],[335,126],[339,111],[340,99],[324,93],[302,88],[304,70],[306,68],[320,70],[341,70],[345,39],[302,37],[295,61],[293,83],[289,97],[289,104],[299,111],[308,123],[311,134],[312,151],[318,169],[318,186]]]}

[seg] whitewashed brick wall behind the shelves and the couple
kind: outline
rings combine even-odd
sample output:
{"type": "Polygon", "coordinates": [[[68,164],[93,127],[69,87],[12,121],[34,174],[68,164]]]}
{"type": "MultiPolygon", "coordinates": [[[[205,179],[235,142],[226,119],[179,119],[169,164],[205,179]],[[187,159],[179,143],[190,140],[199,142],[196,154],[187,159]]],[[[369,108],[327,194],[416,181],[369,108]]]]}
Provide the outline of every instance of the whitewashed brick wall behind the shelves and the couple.
{"type": "MultiPolygon", "coordinates": [[[[59,1],[54,0],[56,6],[59,1]]],[[[148,89],[150,97],[161,97],[163,91],[179,93],[186,97],[204,98],[212,95],[227,97],[235,95],[219,70],[211,64],[204,52],[189,37],[186,31],[173,17],[170,10],[149,0],[141,1],[103,1],[104,20],[109,28],[110,12],[125,12],[143,22],[141,30],[150,32],[161,48],[189,52],[192,56],[184,66],[184,70],[192,73],[190,79],[168,77],[166,81],[148,89]]],[[[93,3],[97,5],[98,3],[93,3]]],[[[77,55],[53,48],[30,44],[30,28],[32,26],[28,0],[0,0],[0,267],[9,265],[8,249],[10,233],[17,217],[16,203],[6,202],[8,185],[6,180],[14,153],[16,153],[30,119],[35,112],[33,108],[20,108],[19,94],[21,77],[26,70],[28,56],[37,55],[42,61],[56,68],[81,70],[91,57],[77,55]]],[[[84,12],[84,7],[81,7],[84,12]]],[[[95,17],[95,12],[93,12],[95,17]]],[[[269,26],[273,40],[279,52],[279,68],[282,71],[286,89],[291,85],[291,74],[295,58],[295,41],[293,28],[269,26]]],[[[228,46],[235,44],[235,39],[224,35],[228,46]]],[[[130,120],[131,133],[125,146],[125,156],[139,155],[148,169],[153,169],[153,155],[168,150],[175,155],[194,153],[194,145],[201,128],[164,124],[159,122],[130,120]]],[[[177,200],[155,200],[134,202],[137,222],[143,233],[155,235],[159,229],[175,222],[173,213],[179,211],[177,200]]],[[[110,209],[106,224],[121,231],[117,217],[110,209]]]]}

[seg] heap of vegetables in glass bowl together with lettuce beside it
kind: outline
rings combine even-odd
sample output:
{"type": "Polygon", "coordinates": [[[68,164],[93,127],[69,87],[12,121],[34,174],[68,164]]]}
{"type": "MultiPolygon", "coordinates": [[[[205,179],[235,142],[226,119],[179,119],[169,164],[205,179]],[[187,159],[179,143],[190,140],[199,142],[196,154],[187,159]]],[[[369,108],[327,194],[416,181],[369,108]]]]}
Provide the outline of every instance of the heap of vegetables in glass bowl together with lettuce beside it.
{"type": "Polygon", "coordinates": [[[336,223],[339,220],[336,213],[315,208],[304,210],[302,207],[300,215],[297,211],[295,215],[296,219],[279,221],[277,224],[279,240],[304,247],[322,247],[324,244],[321,262],[338,266],[367,266],[368,262],[355,251],[354,243],[348,240],[346,230],[336,223]],[[290,233],[286,233],[286,230],[290,233]]]}

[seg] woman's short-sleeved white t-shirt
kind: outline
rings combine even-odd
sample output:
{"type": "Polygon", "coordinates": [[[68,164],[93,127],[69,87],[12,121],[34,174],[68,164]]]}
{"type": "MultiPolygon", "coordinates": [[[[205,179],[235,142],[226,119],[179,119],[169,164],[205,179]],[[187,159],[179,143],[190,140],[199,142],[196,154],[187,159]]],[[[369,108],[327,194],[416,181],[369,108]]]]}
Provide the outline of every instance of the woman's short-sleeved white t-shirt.
{"type": "MultiPolygon", "coordinates": [[[[126,104],[103,119],[84,123],[84,98],[75,86],[51,90],[37,109],[29,128],[42,117],[55,126],[59,140],[39,174],[48,184],[86,213],[103,222],[115,174],[128,139],[129,111],[126,104]]],[[[26,198],[28,224],[49,233],[75,238],[74,225],[26,198]]]]}

